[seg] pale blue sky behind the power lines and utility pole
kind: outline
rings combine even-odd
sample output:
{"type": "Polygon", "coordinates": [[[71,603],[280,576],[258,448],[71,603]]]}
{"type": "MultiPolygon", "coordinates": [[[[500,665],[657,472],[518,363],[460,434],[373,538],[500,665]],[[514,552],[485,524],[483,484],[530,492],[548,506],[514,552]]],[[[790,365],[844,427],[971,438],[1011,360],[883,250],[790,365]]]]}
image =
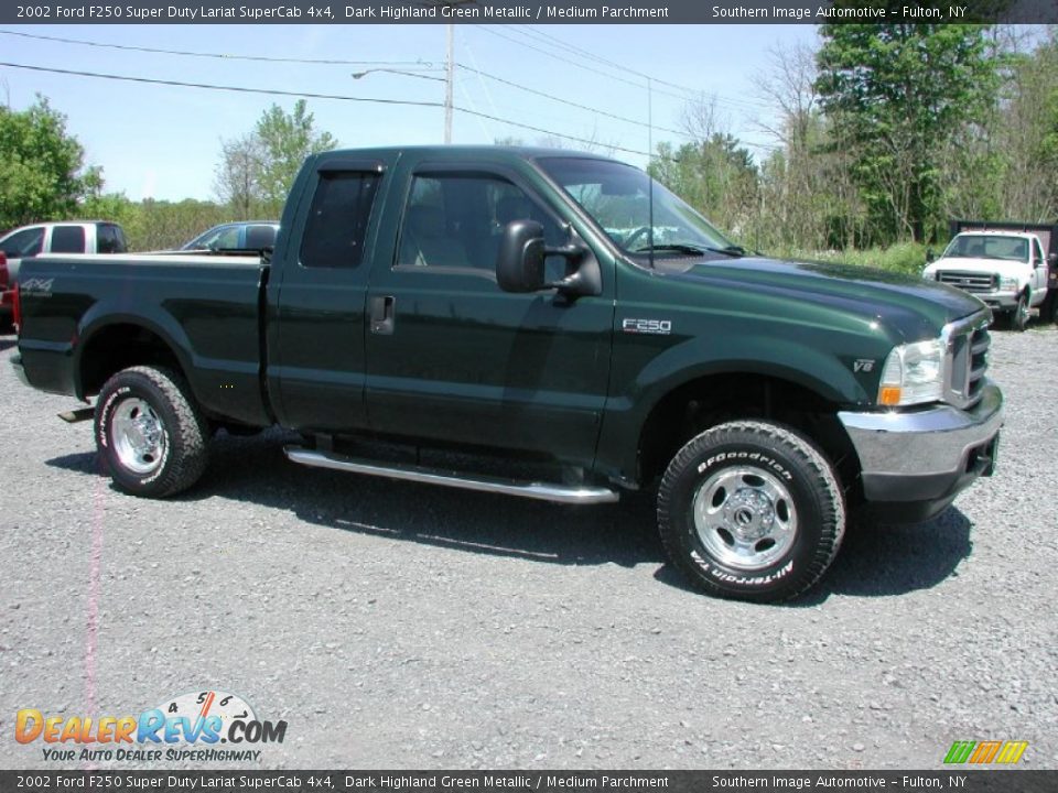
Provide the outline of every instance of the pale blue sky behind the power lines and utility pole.
{"type": "MultiPolygon", "coordinates": [[[[334,94],[407,101],[444,98],[442,82],[374,72],[365,65],[313,65],[192,57],[29,39],[32,34],[96,44],[154,50],[305,59],[380,62],[377,67],[442,67],[445,25],[10,25],[0,29],[6,62],[184,83],[262,88],[294,94],[334,94]],[[387,65],[386,62],[407,62],[387,65]]],[[[597,108],[640,124],[581,110],[457,69],[454,104],[557,133],[634,151],[648,150],[648,95],[655,144],[680,138],[657,128],[680,128],[687,102],[682,86],[715,98],[722,119],[749,143],[774,143],[758,127],[771,110],[752,78],[767,68],[768,50],[812,42],[810,25],[455,25],[455,61],[496,78],[597,108]],[[595,59],[603,58],[605,62],[595,59]]],[[[422,76],[442,77],[443,72],[422,76]]],[[[88,162],[101,165],[108,192],[132,199],[210,198],[220,141],[249,132],[273,101],[294,97],[235,94],[115,82],[0,67],[0,96],[14,109],[46,96],[67,117],[88,162]]],[[[309,99],[319,129],[342,146],[440,143],[441,108],[309,99]]],[[[490,143],[516,137],[537,143],[541,133],[455,113],[453,142],[490,143]]],[[[568,142],[566,145],[575,146],[568,142]]],[[[751,146],[753,149],[753,146],[751,146]]],[[[756,153],[766,153],[755,149],[756,153]]],[[[615,155],[637,165],[646,159],[615,155]]]]}

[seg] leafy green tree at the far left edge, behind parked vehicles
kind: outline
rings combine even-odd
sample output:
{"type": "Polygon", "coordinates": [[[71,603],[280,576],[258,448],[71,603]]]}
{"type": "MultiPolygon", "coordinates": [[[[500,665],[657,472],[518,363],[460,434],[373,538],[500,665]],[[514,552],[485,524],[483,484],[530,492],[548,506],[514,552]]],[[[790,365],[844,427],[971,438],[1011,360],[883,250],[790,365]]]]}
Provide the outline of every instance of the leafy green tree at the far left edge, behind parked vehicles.
{"type": "Polygon", "coordinates": [[[37,95],[21,111],[0,107],[0,228],[68,217],[101,187],[102,171],[85,165],[85,150],[47,99],[37,95]]]}

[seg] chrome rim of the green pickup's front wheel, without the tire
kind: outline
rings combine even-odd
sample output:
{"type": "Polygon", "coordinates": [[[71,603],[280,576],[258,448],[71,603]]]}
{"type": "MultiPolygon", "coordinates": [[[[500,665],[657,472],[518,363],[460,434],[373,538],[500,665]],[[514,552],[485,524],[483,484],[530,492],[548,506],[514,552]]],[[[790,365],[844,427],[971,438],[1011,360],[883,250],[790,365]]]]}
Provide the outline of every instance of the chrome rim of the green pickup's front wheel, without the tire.
{"type": "Polygon", "coordinates": [[[721,564],[758,571],[780,560],[797,536],[797,509],[787,487],[759,468],[713,474],[694,495],[694,528],[721,564]]]}

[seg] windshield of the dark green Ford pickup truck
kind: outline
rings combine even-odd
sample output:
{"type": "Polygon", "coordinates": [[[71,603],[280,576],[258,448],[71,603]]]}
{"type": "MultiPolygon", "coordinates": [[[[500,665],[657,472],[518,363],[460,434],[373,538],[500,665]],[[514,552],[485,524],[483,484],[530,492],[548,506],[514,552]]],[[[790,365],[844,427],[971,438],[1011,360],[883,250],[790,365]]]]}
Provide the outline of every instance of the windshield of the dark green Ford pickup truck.
{"type": "Polygon", "coordinates": [[[630,165],[586,157],[544,157],[539,164],[626,253],[741,250],[683,200],[630,165]]]}

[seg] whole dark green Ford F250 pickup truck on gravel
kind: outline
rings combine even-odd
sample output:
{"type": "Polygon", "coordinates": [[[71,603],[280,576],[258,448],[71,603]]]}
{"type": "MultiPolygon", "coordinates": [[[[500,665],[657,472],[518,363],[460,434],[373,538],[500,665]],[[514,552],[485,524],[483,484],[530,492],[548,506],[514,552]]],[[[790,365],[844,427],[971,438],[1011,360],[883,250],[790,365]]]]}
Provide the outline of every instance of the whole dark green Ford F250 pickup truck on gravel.
{"type": "Polygon", "coordinates": [[[846,521],[944,509],[1002,424],[975,297],[753,256],[568,151],[315,155],[263,259],[41,257],[17,302],[19,374],[96,398],[67,417],[127,492],[188,488],[216,430],[276,424],[291,460],[353,474],[656,488],[671,563],[745,600],[811,587],[846,521]]]}

